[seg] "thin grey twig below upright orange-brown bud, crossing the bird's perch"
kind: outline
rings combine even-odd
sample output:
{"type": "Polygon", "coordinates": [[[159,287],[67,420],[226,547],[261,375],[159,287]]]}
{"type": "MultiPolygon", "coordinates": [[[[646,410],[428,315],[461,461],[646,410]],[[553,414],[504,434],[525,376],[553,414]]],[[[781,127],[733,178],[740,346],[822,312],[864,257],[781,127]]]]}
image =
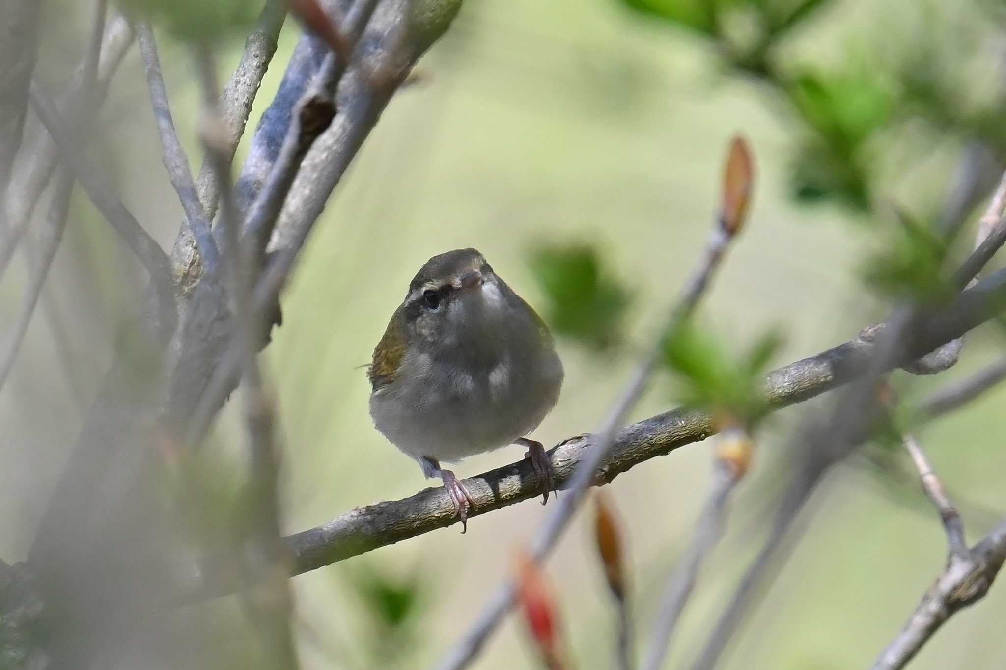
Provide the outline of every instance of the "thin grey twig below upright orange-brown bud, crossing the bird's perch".
{"type": "MultiPolygon", "coordinates": [[[[746,149],[744,151],[746,152],[746,149]]],[[[740,208],[741,212],[745,207],[746,202],[740,208]]],[[[583,498],[585,490],[595,481],[598,468],[605,462],[615,445],[617,431],[624,425],[626,416],[646,390],[650,378],[660,362],[665,339],[680,327],[681,323],[693,311],[708,286],[709,280],[719,267],[723,254],[738,228],[739,223],[732,220],[729,223],[717,221],[713,227],[702,260],[685,284],[682,294],[671,305],[666,324],[654,338],[647,349],[644,363],[636,371],[599,428],[596,439],[592,440],[590,450],[573,472],[567,493],[558,499],[551,514],[545,518],[544,523],[539,528],[531,544],[533,561],[540,563],[555,546],[583,498]],[[737,225],[732,225],[734,223],[737,225]]],[[[490,598],[489,604],[437,667],[441,670],[460,670],[467,667],[478,655],[489,635],[503,620],[503,616],[513,606],[516,589],[517,585],[513,580],[507,580],[499,587],[490,598]]]]}

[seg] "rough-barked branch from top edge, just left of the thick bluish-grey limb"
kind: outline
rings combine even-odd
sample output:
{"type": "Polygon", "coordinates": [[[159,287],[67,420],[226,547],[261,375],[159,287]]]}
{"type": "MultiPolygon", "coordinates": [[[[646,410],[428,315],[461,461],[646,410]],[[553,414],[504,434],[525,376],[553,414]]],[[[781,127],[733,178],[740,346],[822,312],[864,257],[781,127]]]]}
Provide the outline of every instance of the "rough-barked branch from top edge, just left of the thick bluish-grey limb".
{"type": "MultiPolygon", "coordinates": [[[[244,41],[241,57],[220,96],[220,116],[226,128],[226,152],[229,164],[237,150],[237,143],[244,134],[244,126],[252,114],[263,77],[276,53],[277,39],[287,16],[286,0],[267,0],[259,15],[255,30],[244,41]]],[[[196,181],[199,201],[212,220],[219,198],[219,185],[208,163],[204,163],[196,181]]],[[[202,264],[196,255],[196,245],[187,226],[182,226],[171,250],[171,265],[180,293],[188,297],[202,273],[202,264]]]]}

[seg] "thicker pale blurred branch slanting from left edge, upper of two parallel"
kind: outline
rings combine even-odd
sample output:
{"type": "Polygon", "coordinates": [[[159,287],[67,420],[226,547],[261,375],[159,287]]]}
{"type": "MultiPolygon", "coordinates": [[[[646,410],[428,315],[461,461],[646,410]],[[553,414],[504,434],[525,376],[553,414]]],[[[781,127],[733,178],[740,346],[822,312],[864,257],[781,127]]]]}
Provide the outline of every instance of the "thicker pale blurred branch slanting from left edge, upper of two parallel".
{"type": "MultiPolygon", "coordinates": [[[[108,93],[109,83],[119,68],[123,56],[133,41],[133,28],[122,17],[117,17],[109,26],[102,45],[102,55],[98,65],[97,90],[91,93],[91,103],[95,109],[101,106],[108,93]]],[[[81,63],[73,73],[69,90],[59,101],[60,114],[69,115],[85,88],[87,63],[81,63]]],[[[10,187],[7,190],[7,223],[6,230],[0,226],[0,278],[10,263],[14,250],[27,230],[28,221],[38,204],[38,199],[49,183],[52,171],[56,166],[56,147],[48,133],[42,131],[35,142],[26,145],[21,152],[25,159],[23,165],[11,176],[10,187]]],[[[2,212],[0,212],[2,213],[2,212]]]]}

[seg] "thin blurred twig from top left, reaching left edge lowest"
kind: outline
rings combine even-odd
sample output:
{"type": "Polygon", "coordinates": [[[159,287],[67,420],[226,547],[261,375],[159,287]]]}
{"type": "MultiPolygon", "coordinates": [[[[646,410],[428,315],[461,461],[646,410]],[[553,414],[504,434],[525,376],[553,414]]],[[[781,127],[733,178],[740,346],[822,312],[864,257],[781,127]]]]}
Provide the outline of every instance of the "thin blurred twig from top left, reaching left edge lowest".
{"type": "MultiPolygon", "coordinates": [[[[108,12],[108,0],[96,0],[94,19],[92,22],[91,38],[88,44],[87,55],[85,56],[85,77],[80,94],[76,100],[77,104],[74,113],[80,120],[79,126],[90,125],[94,111],[92,99],[94,97],[95,81],[98,74],[98,61],[101,57],[102,36],[105,34],[105,18],[108,12]]],[[[14,368],[17,354],[24,342],[24,336],[28,331],[28,324],[31,316],[35,312],[38,304],[38,297],[41,295],[45,279],[52,267],[52,259],[55,258],[59,242],[62,240],[63,231],[66,229],[66,217],[69,213],[69,200],[73,191],[73,178],[66,168],[60,168],[56,177],[53,189],[52,202],[49,205],[49,213],[46,221],[46,230],[41,240],[41,254],[37,264],[31,270],[31,278],[24,292],[24,299],[14,319],[13,332],[4,348],[4,353],[0,357],[0,390],[14,368]]]]}

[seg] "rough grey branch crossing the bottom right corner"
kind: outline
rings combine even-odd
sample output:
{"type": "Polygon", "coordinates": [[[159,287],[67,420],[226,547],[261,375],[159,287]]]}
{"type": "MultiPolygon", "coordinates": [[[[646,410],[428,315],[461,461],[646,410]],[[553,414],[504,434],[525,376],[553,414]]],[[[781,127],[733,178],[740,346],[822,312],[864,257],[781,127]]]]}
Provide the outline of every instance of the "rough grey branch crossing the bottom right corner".
{"type": "Polygon", "coordinates": [[[1006,561],[1006,522],[964,553],[951,553],[944,573],[923,596],[898,636],[874,662],[873,670],[898,670],[963,608],[985,597],[1006,561]]]}

